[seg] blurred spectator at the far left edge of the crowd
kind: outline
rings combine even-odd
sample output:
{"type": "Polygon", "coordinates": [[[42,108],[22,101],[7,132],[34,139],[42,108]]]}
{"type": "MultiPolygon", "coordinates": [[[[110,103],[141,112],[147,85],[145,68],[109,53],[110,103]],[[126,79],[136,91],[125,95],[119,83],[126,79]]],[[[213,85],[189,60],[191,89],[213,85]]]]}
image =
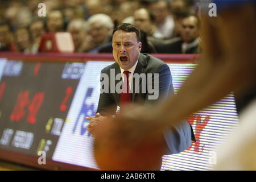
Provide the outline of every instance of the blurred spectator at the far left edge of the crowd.
{"type": "Polygon", "coordinates": [[[0,51],[16,51],[9,23],[0,23],[0,51]]]}

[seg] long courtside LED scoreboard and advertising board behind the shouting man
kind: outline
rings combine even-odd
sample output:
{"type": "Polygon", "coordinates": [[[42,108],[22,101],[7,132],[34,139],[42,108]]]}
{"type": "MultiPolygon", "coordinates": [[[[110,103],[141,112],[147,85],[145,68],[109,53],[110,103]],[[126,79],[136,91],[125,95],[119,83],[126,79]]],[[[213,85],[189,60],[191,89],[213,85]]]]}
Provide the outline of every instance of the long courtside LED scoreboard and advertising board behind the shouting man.
{"type": "MultiPolygon", "coordinates": [[[[23,57],[23,61],[0,58],[0,158],[46,169],[98,169],[85,117],[96,113],[100,72],[112,59],[24,61],[23,57]],[[46,154],[46,165],[38,164],[40,151],[46,154]]],[[[196,65],[172,63],[170,57],[162,59],[169,60],[177,92],[196,65]]],[[[238,126],[233,95],[187,119],[197,142],[180,154],[163,156],[163,170],[210,169],[217,147],[238,126]]]]}

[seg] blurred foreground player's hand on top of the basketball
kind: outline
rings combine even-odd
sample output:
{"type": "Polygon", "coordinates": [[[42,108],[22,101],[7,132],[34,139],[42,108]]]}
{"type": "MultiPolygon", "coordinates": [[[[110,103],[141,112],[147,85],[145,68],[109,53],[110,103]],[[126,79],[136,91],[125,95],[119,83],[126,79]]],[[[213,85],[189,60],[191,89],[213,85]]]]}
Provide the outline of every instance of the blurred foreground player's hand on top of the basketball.
{"type": "Polygon", "coordinates": [[[127,105],[109,123],[112,126],[108,127],[106,138],[113,143],[125,143],[129,147],[137,146],[149,135],[162,135],[162,122],[159,122],[156,110],[150,106],[127,105]]]}

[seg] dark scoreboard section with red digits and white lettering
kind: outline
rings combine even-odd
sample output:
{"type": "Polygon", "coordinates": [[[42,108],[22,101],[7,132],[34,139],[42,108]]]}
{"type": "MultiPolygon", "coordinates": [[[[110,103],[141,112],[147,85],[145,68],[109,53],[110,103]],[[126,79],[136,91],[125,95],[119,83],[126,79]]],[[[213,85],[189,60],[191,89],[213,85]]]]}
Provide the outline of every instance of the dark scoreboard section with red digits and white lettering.
{"type": "Polygon", "coordinates": [[[45,150],[51,158],[83,69],[83,63],[7,61],[0,84],[1,148],[30,155],[45,150]]]}

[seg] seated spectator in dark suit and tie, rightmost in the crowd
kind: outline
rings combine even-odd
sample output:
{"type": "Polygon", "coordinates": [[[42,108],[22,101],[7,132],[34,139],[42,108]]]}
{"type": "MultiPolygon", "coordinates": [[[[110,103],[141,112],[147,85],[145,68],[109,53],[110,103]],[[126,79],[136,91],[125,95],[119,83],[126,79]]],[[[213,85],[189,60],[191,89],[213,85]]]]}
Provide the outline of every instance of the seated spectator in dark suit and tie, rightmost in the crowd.
{"type": "Polygon", "coordinates": [[[199,53],[200,20],[187,16],[182,20],[181,37],[153,44],[158,53],[199,53]]]}

